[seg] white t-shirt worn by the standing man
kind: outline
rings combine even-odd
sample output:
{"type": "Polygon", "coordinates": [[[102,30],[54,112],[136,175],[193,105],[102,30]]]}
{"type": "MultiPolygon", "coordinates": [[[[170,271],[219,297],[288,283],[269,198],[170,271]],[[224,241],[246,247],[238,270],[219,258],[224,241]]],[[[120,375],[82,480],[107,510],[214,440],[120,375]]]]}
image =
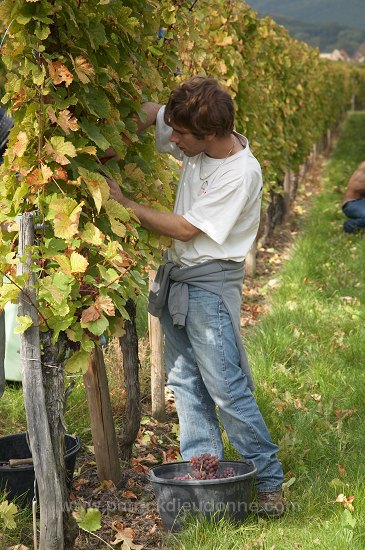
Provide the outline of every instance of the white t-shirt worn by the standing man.
{"type": "Polygon", "coordinates": [[[205,153],[187,157],[169,141],[172,128],[164,122],[164,110],[156,120],[157,149],[182,161],[174,213],[202,231],[187,242],[173,239],[169,259],[184,265],[242,261],[257,234],[262,193],[261,168],[247,139],[235,132],[245,149],[224,162],[205,153]]]}

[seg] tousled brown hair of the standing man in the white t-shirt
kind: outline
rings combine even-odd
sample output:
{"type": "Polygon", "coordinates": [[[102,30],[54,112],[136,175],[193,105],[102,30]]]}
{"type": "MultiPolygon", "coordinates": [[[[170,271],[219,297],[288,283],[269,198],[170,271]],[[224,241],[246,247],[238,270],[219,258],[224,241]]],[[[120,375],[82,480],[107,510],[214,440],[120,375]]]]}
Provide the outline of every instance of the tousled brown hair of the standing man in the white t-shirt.
{"type": "Polygon", "coordinates": [[[171,92],[164,120],[169,126],[186,128],[198,139],[212,133],[227,136],[233,132],[233,101],[214,78],[195,76],[171,92]]]}

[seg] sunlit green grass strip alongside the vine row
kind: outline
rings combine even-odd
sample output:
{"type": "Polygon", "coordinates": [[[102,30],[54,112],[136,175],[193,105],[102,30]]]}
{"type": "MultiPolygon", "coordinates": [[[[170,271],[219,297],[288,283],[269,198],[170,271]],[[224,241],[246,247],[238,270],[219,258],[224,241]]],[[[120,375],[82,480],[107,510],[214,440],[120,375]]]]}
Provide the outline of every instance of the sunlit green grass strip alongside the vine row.
{"type": "MultiPolygon", "coordinates": [[[[365,114],[346,121],[270,312],[246,335],[256,398],[286,480],[289,512],[191,522],[169,550],[363,550],[365,548],[365,234],[345,234],[341,200],[365,158],[365,114]],[[335,502],[355,496],[354,511],[335,502]]],[[[234,456],[234,451],[228,448],[234,456]]]]}

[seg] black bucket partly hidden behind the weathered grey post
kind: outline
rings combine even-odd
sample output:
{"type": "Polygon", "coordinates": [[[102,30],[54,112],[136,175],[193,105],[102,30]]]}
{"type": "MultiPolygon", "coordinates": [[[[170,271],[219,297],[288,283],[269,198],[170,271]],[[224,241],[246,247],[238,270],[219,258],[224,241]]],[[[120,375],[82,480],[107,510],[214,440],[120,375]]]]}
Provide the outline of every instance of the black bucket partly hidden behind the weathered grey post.
{"type": "MultiPolygon", "coordinates": [[[[65,435],[66,483],[71,491],[76,455],[80,450],[80,439],[65,435]]],[[[7,492],[9,500],[17,500],[20,506],[29,506],[34,496],[34,468],[31,464],[7,466],[10,459],[31,458],[27,434],[19,433],[0,437],[0,489],[7,492]],[[5,463],[5,465],[3,465],[5,463]]]]}

